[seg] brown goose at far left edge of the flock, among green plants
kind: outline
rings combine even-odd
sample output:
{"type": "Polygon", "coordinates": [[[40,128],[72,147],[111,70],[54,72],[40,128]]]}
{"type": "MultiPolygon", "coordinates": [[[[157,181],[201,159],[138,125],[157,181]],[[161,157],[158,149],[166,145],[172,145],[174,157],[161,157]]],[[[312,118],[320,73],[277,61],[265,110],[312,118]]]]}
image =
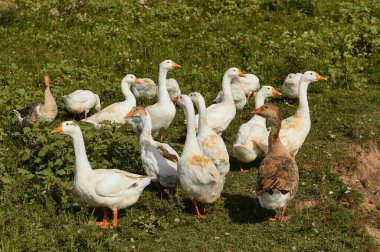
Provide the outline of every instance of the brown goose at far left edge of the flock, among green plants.
{"type": "Polygon", "coordinates": [[[47,122],[54,121],[58,114],[58,107],[55,103],[55,99],[50,92],[50,78],[45,75],[43,77],[42,89],[44,92],[43,103],[33,103],[21,110],[14,109],[21,126],[25,126],[28,123],[33,122],[47,122]]]}

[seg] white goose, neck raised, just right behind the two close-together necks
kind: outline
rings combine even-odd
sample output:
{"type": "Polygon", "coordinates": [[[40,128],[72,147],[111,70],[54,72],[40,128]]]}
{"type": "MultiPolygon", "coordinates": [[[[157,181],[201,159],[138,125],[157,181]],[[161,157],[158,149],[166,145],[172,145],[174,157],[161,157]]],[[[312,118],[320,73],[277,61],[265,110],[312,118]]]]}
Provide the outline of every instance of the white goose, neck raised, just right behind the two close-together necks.
{"type": "MultiPolygon", "coordinates": [[[[231,93],[231,81],[244,73],[236,67],[229,68],[223,76],[223,100],[207,107],[207,122],[209,127],[221,135],[236,115],[236,107],[231,93]]],[[[198,115],[195,116],[195,128],[198,130],[198,115]]]]}

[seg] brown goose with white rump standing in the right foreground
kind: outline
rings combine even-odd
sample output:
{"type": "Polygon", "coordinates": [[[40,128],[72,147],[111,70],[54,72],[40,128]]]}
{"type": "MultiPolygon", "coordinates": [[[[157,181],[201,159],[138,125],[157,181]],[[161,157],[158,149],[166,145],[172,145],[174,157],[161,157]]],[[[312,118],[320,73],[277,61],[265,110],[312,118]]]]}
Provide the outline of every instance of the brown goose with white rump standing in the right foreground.
{"type": "Polygon", "coordinates": [[[265,104],[252,112],[267,119],[271,125],[268,138],[268,154],[259,166],[256,180],[256,195],[262,208],[275,210],[282,208],[281,215],[268,217],[269,221],[287,221],[287,202],[294,198],[298,188],[298,167],[288,149],[279,137],[281,115],[277,107],[265,104]]]}

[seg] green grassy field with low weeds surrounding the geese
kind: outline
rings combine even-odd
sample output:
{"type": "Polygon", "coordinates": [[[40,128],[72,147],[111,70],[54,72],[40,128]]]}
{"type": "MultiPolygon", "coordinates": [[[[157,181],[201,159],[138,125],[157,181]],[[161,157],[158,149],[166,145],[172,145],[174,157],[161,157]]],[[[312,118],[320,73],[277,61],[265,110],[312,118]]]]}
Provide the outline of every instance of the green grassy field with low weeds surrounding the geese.
{"type": "MultiPolygon", "coordinates": [[[[380,139],[379,33],[375,0],[1,1],[0,250],[377,250],[366,226],[380,228],[380,203],[366,210],[359,191],[347,189],[333,171],[353,169],[352,147],[380,139]],[[101,213],[75,194],[72,141],[50,134],[58,119],[21,128],[12,112],[42,101],[41,78],[49,74],[59,115],[78,121],[60,96],[90,89],[106,106],[123,99],[124,75],[157,82],[165,59],[182,65],[169,73],[182,92],[199,91],[208,104],[232,66],[278,89],[291,72],[314,70],[328,78],[309,86],[312,128],[297,155],[299,191],[287,223],[265,221],[254,192],[259,163],[242,174],[232,155],[252,104],[223,133],[231,171],[206,220],[194,217],[180,188],[179,197],[162,197],[151,185],[121,211],[114,230],[95,227],[101,213]]],[[[281,97],[271,102],[284,118],[295,111],[281,97]]],[[[178,108],[166,134],[179,153],[183,119],[178,108]]],[[[93,168],[143,173],[129,127],[81,128],[93,168]]]]}

